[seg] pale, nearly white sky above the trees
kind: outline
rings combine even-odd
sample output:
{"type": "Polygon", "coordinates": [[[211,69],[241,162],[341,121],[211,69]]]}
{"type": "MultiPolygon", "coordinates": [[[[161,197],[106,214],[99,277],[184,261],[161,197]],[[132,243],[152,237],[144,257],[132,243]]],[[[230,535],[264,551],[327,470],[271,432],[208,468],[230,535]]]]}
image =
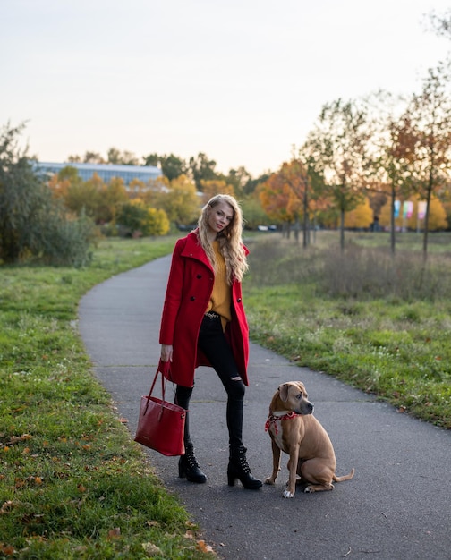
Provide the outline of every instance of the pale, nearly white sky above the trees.
{"type": "Polygon", "coordinates": [[[412,94],[451,0],[0,0],[0,126],[40,161],[109,148],[277,171],[321,107],[412,94]]]}

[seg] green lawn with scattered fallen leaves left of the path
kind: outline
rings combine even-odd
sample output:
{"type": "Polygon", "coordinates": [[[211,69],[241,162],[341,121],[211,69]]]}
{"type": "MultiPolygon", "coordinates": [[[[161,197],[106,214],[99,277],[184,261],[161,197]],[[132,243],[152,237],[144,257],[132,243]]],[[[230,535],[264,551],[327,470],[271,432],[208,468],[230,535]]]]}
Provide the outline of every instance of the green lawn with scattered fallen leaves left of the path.
{"type": "Polygon", "coordinates": [[[0,557],[213,556],[91,375],[75,323],[91,286],[173,247],[106,241],[86,269],[0,269],[0,557]]]}

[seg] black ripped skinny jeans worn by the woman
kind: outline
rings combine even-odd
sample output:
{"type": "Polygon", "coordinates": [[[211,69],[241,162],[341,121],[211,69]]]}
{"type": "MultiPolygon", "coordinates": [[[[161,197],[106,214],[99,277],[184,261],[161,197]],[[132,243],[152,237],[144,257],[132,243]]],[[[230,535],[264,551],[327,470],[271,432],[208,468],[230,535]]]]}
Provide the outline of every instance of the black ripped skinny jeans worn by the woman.
{"type": "MultiPolygon", "coordinates": [[[[245,386],[238,373],[234,354],[225,340],[219,316],[205,316],[200,326],[198,347],[206,355],[213,366],[227,393],[226,420],[231,449],[243,446],[243,402],[245,386]]],[[[193,387],[178,385],[175,391],[175,402],[188,410],[193,387]]],[[[185,445],[191,445],[189,414],[186,414],[185,445]]]]}

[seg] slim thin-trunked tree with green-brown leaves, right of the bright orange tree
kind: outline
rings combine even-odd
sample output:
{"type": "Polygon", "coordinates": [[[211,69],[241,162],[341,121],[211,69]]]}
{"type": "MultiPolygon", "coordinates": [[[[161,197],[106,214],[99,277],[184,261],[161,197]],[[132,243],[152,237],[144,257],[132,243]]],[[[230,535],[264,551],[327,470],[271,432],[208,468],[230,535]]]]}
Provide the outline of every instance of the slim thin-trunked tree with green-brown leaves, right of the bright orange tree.
{"type": "Polygon", "coordinates": [[[323,106],[318,123],[303,149],[324,178],[325,191],[340,212],[340,246],[345,248],[345,212],[363,197],[367,172],[365,152],[370,140],[367,113],[354,101],[338,99],[323,106]]]}

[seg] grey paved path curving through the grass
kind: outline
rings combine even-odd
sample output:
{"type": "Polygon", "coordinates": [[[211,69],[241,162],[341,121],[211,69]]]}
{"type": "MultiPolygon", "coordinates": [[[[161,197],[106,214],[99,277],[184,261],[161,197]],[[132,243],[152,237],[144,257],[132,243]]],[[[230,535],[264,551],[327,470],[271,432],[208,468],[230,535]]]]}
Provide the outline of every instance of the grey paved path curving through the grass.
{"type": "MultiPolygon", "coordinates": [[[[80,303],[80,330],[95,373],[134,434],[140,395],[159,357],[158,331],[170,258],[115,276],[80,303]]],[[[332,492],[284,499],[286,455],[275,487],[226,484],[225,392],[198,369],[191,434],[205,485],[177,478],[177,459],[146,450],[219,557],[233,560],[413,560],[451,558],[451,433],[397,413],[327,375],[299,368],[251,344],[244,443],[255,476],[271,471],[264,431],[277,386],[302,380],[336,450],[337,474],[353,480],[332,492]]],[[[170,388],[170,396],[173,397],[170,388]]],[[[143,448],[144,449],[144,448],[143,448]]],[[[143,498],[144,499],[144,498],[143,498]]]]}

